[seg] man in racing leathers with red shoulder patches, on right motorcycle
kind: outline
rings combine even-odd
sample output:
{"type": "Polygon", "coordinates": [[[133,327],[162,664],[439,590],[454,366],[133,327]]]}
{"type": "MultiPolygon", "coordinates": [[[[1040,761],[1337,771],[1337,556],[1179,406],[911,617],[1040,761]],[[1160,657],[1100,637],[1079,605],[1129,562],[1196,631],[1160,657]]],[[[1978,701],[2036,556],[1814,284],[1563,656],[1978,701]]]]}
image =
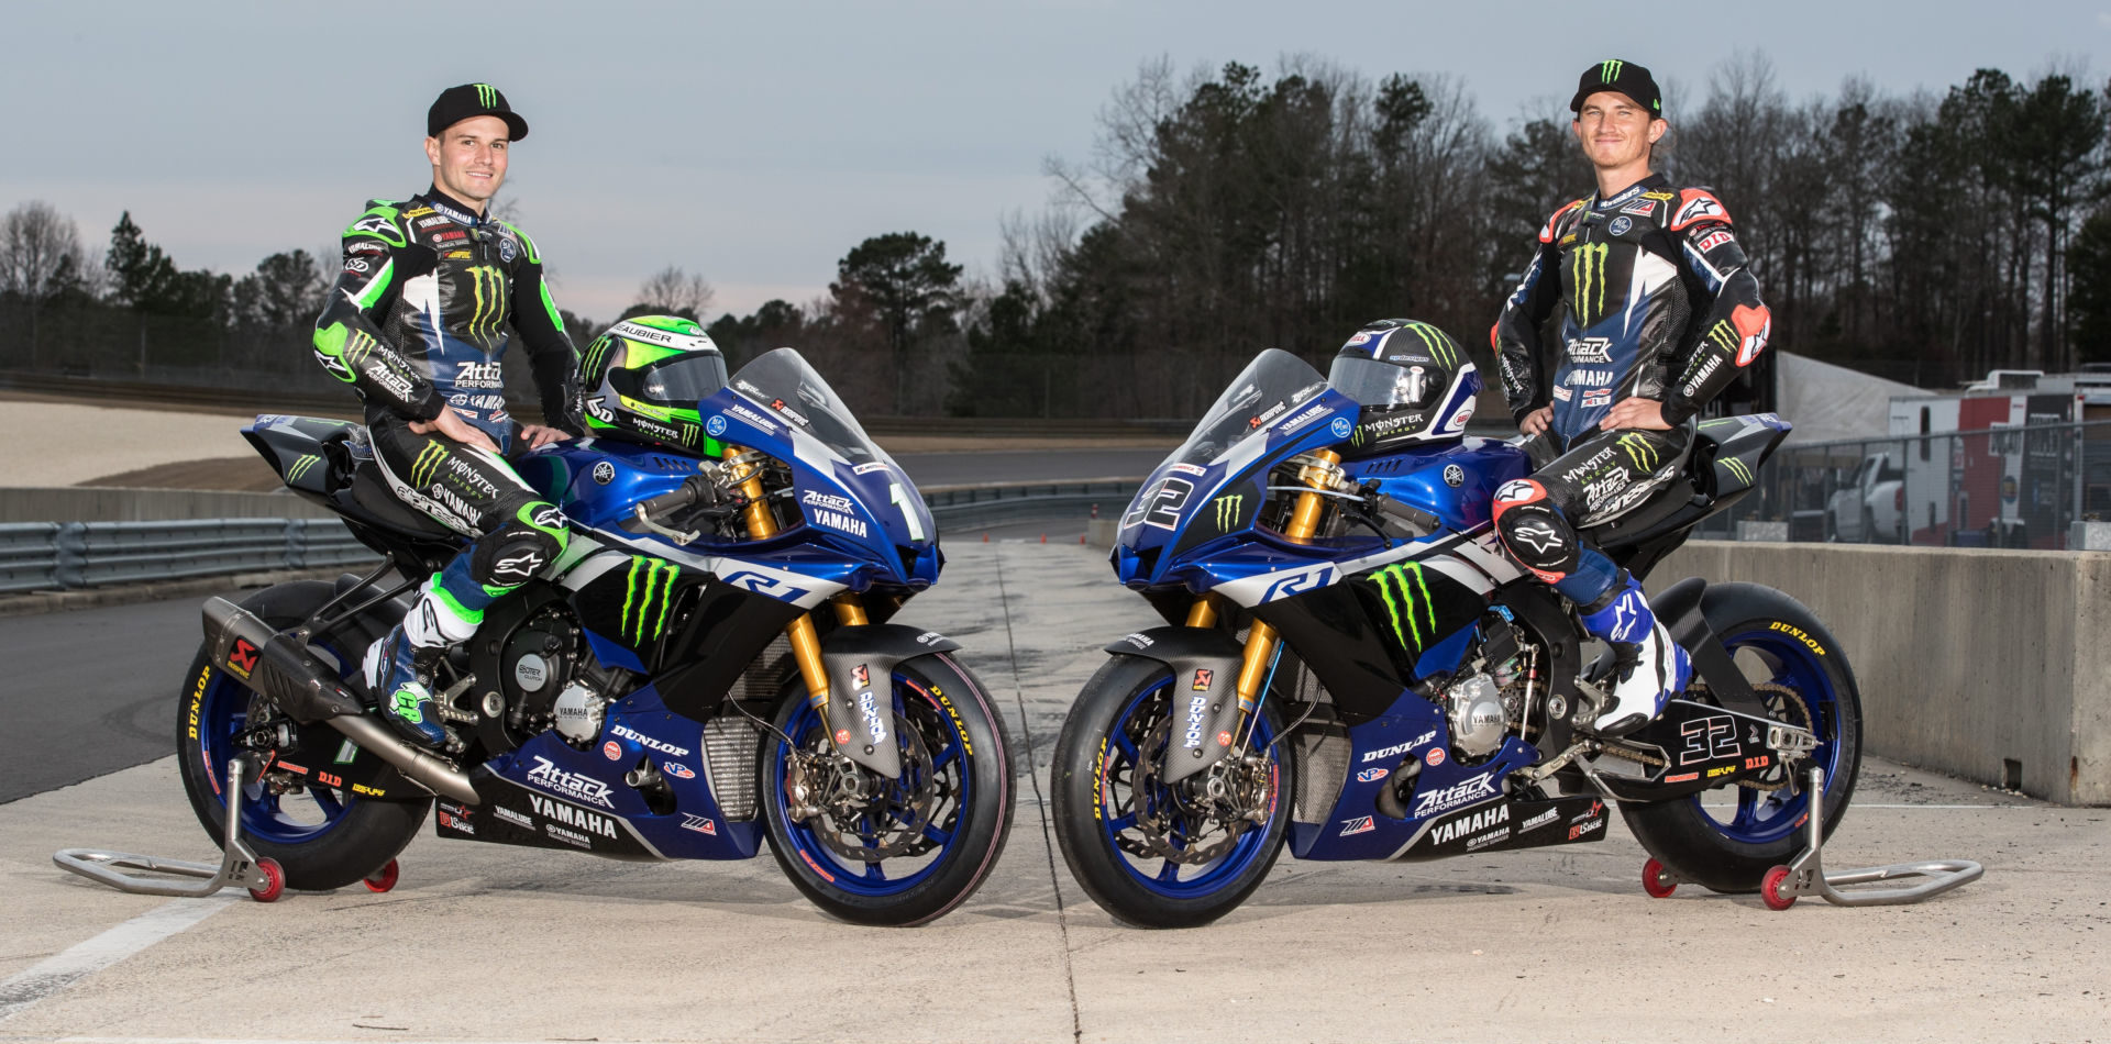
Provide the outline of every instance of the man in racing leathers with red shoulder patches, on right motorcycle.
{"type": "Polygon", "coordinates": [[[1568,108],[1598,192],[1547,219],[1488,331],[1518,430],[1535,437],[1535,460],[1554,460],[1497,489],[1495,525],[1533,576],[1577,603],[1583,629],[1611,643],[1609,700],[1587,728],[1619,736],[1663,711],[1691,662],[1642,586],[1579,529],[1636,508],[1678,475],[1691,418],[1767,346],[1771,321],[1714,194],[1672,188],[1649,169],[1670,129],[1649,70],[1592,65],[1568,108]],[[1562,342],[1547,382],[1539,331],[1556,308],[1562,342]]]}

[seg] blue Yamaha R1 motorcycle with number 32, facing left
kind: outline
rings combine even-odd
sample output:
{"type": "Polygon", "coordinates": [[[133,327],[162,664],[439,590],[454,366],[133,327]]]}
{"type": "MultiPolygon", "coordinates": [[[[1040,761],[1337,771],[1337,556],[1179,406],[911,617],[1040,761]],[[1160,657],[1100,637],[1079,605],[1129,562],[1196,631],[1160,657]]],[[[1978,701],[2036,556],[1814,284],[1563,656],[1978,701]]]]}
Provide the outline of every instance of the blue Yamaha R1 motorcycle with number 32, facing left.
{"type": "MultiPolygon", "coordinates": [[[[1860,766],[1853,673],[1777,591],[1659,593],[1697,679],[1640,732],[1575,730],[1611,654],[1585,662],[1575,607],[1503,555],[1492,494],[1533,464],[1463,434],[1467,378],[1429,441],[1357,456],[1359,407],[1264,352],[1129,504],[1115,572],[1167,626],[1106,647],[1053,793],[1064,858],[1115,917],[1216,920],[1283,844],[1427,861],[1596,842],[1606,808],[1655,856],[1653,894],[1672,875],[1752,892],[1801,850],[1809,763],[1839,823],[1860,766]]],[[[1672,489],[1592,538],[1647,576],[1750,494],[1786,432],[1771,413],[1701,422],[1672,489]]]]}

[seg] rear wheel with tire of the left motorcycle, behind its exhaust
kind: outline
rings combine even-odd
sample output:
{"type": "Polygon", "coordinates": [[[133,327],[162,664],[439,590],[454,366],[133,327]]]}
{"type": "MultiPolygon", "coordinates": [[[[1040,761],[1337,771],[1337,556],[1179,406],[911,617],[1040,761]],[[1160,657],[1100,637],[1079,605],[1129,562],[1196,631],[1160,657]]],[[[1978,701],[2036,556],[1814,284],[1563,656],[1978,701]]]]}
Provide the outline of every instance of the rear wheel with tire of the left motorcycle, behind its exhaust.
{"type": "MultiPolygon", "coordinates": [[[[243,599],[243,607],[274,629],[287,629],[329,601],[331,586],[321,580],[279,584],[243,599]]],[[[367,635],[344,629],[342,643],[315,643],[312,650],[340,664],[350,677],[359,671],[359,654],[367,635]]],[[[177,774],[198,825],[220,844],[226,837],[228,761],[245,753],[239,736],[251,717],[268,713],[262,696],[211,664],[205,647],[190,660],[184,690],[175,702],[177,774]]],[[[327,723],[300,726],[329,730],[327,723]]],[[[243,780],[243,839],[258,856],[274,861],[287,888],[344,888],[382,869],[401,852],[431,806],[424,801],[376,801],[306,780],[300,791],[272,793],[266,780],[243,780]]]]}

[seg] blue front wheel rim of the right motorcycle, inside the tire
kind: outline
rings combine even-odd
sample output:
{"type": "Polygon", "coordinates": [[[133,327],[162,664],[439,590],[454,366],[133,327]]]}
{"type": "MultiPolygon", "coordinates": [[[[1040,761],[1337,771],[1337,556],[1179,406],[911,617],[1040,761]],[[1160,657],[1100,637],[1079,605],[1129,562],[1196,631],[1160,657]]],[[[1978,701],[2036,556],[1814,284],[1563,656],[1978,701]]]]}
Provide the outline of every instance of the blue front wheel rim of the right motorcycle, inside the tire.
{"type": "MultiPolygon", "coordinates": [[[[1273,751],[1269,753],[1269,768],[1273,776],[1269,795],[1269,820],[1245,829],[1239,835],[1239,839],[1233,842],[1231,850],[1224,852],[1222,856],[1216,856],[1214,861],[1197,867],[1186,867],[1172,861],[1136,856],[1134,852],[1121,848],[1121,835],[1129,829],[1136,829],[1134,785],[1136,785],[1138,757],[1150,753],[1150,751],[1140,751],[1140,745],[1136,742],[1138,734],[1150,732],[1146,719],[1140,715],[1148,713],[1148,709],[1157,702],[1169,702],[1169,700],[1159,700],[1159,696],[1169,688],[1172,679],[1159,679],[1157,683],[1144,688],[1134,698],[1129,698],[1127,707],[1123,707],[1121,713],[1115,715],[1115,721],[1106,734],[1106,757],[1100,761],[1100,766],[1096,766],[1098,778],[1093,780],[1093,793],[1100,795],[1098,797],[1100,808],[1093,810],[1093,820],[1100,825],[1100,835],[1106,842],[1108,852],[1112,852],[1115,865],[1119,865],[1138,886],[1165,898],[1201,898],[1235,882],[1237,877],[1248,873],[1256,861],[1269,856],[1267,837],[1273,835],[1275,816],[1281,814],[1281,757],[1277,757],[1273,751]],[[1121,795],[1115,793],[1117,774],[1127,776],[1127,791],[1129,791],[1127,808],[1121,806],[1121,795]],[[1148,863],[1159,863],[1159,865],[1150,867],[1148,863]]],[[[1269,728],[1267,715],[1256,713],[1252,721],[1254,721],[1252,726],[1254,734],[1248,740],[1250,749],[1267,747],[1269,742],[1275,740],[1275,730],[1269,728]]],[[[1172,789],[1159,785],[1157,799],[1169,801],[1172,789]]],[[[1176,842],[1180,839],[1178,831],[1174,833],[1174,839],[1176,842]]]]}

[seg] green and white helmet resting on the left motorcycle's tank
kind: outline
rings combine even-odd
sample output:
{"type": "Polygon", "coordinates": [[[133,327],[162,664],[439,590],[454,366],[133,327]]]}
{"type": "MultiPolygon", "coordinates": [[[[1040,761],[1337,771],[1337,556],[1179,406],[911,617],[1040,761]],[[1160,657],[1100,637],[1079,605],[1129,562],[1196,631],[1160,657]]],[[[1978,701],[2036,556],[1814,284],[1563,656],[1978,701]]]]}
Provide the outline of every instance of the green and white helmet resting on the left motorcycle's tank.
{"type": "Polygon", "coordinates": [[[692,318],[633,316],[608,327],[578,361],[587,434],[718,456],[697,401],[726,386],[726,356],[692,318]]]}

